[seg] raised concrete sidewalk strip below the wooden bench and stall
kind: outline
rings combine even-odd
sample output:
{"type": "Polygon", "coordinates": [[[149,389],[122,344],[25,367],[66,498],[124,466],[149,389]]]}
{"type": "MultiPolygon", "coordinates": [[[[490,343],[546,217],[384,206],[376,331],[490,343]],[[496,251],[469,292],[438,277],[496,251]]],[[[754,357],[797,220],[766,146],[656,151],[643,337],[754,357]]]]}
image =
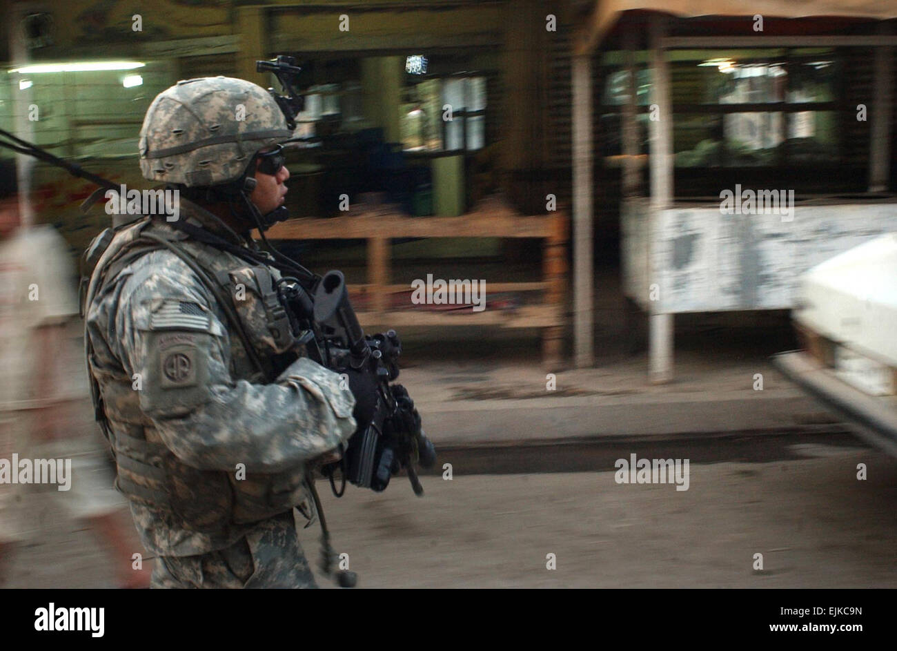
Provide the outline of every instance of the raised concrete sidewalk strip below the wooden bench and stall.
{"type": "Polygon", "coordinates": [[[552,379],[535,364],[428,361],[406,367],[399,382],[437,444],[782,431],[835,422],[765,357],[718,364],[683,352],[675,383],[663,385],[648,383],[647,367],[637,356],[552,379]]]}

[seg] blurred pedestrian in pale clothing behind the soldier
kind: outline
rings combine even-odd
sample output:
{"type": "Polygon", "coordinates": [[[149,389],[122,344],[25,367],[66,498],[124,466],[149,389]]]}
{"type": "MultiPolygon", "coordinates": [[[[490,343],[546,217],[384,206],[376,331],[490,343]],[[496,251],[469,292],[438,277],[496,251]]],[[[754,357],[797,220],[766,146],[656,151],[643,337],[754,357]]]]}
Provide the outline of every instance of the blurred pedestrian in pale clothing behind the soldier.
{"type": "Polygon", "coordinates": [[[13,547],[39,529],[56,496],[105,542],[118,585],[146,587],[149,569],[134,569],[139,542],[92,418],[65,242],[50,226],[27,228],[21,221],[15,167],[0,161],[0,464],[7,469],[5,476],[0,469],[0,584],[13,547]],[[13,483],[13,455],[70,460],[67,489],[13,483]]]}

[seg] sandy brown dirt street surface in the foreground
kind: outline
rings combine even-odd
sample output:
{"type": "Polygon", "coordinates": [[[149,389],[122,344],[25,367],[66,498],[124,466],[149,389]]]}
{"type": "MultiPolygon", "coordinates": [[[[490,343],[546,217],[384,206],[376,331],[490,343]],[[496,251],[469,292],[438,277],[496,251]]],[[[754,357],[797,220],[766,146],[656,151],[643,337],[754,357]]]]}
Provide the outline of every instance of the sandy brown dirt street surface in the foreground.
{"type": "MultiPolygon", "coordinates": [[[[420,498],[404,478],[340,500],[319,486],[359,587],[897,587],[897,461],[797,452],[806,459],[694,463],[685,491],[606,471],[424,477],[420,498]]],[[[44,529],[7,587],[112,586],[91,532],[52,514],[44,529]]],[[[301,532],[315,563],[318,532],[301,532]]]]}

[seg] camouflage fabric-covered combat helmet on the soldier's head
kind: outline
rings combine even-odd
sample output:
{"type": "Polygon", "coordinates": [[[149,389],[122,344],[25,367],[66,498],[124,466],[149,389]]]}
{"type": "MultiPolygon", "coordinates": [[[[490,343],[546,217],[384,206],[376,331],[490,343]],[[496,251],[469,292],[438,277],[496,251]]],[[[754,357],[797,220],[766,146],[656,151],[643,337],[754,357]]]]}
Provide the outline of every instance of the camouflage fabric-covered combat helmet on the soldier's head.
{"type": "Polygon", "coordinates": [[[266,90],[243,79],[187,79],[156,95],[140,129],[144,179],[187,188],[238,180],[259,149],[292,136],[266,90]]]}

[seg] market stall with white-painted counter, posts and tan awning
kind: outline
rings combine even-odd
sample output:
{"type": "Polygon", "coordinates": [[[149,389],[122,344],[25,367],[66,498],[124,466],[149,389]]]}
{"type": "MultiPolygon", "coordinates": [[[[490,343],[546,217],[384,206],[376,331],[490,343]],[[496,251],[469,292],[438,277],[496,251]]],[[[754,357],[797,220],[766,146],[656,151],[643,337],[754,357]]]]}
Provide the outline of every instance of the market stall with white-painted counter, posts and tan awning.
{"type": "MultiPolygon", "coordinates": [[[[580,32],[574,132],[590,133],[596,98],[596,167],[619,169],[623,286],[649,312],[654,382],[672,378],[676,313],[791,308],[807,268],[897,229],[897,37],[883,22],[897,4],[754,9],[612,0],[580,32]]],[[[591,155],[574,155],[574,242],[592,221],[591,155]]],[[[575,251],[589,365],[591,261],[575,251]]]]}

